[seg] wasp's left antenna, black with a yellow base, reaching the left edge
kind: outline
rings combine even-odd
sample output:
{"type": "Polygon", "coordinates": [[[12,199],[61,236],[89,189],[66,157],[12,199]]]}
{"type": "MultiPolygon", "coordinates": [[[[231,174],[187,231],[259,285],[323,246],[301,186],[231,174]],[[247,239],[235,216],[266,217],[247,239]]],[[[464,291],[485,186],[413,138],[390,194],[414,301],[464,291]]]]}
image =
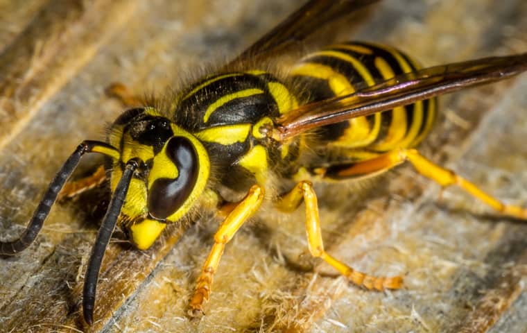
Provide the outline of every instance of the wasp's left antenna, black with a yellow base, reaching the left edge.
{"type": "Polygon", "coordinates": [[[35,213],[33,213],[26,230],[14,241],[0,241],[0,255],[15,255],[35,241],[37,234],[42,229],[42,225],[44,225],[44,220],[51,210],[51,206],[53,206],[60,190],[64,187],[64,183],[76,169],[80,157],[89,152],[103,153],[110,156],[119,155],[115,148],[103,142],[84,141],[79,144],[74,153],[64,162],[55,178],[51,180],[48,190],[40,201],[35,213]]]}

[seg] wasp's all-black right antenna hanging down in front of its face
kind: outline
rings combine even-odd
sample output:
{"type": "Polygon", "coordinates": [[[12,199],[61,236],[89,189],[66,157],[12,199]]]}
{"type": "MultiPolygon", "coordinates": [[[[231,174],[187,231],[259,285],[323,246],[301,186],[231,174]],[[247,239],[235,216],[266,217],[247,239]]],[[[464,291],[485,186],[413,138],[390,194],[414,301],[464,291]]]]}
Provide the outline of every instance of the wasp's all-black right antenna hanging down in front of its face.
{"type": "Polygon", "coordinates": [[[95,291],[97,288],[97,278],[99,270],[101,269],[101,262],[103,262],[104,252],[110,241],[110,236],[114,231],[117,223],[117,218],[121,213],[126,193],[135,169],[138,167],[136,160],[130,160],[126,163],[126,169],[123,172],[121,180],[117,185],[114,196],[110,201],[108,210],[103,219],[101,228],[98,230],[95,245],[92,249],[92,254],[89,255],[88,266],[85,275],[84,291],[83,291],[83,314],[84,319],[88,325],[92,325],[94,319],[94,305],[95,305],[95,291]]]}

